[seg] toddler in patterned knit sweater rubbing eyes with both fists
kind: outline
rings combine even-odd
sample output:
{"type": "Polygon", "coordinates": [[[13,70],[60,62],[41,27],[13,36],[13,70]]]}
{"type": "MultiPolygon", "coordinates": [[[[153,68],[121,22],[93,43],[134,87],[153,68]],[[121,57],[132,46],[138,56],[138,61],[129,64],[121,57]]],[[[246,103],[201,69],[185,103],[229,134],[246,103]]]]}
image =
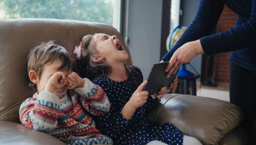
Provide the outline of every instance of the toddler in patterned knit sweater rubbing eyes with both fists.
{"type": "Polygon", "coordinates": [[[22,124],[67,144],[113,144],[89,116],[107,113],[110,102],[100,86],[71,72],[65,48],[50,41],[32,49],[28,76],[37,92],[20,106],[22,124]]]}

